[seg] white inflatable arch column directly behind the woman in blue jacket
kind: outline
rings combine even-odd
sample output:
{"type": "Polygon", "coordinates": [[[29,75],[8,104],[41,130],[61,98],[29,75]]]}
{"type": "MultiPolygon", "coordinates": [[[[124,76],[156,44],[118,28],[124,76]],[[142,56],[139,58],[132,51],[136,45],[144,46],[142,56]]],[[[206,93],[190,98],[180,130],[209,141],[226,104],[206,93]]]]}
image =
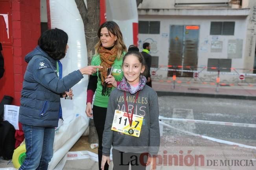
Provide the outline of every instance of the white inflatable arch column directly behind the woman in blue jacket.
{"type": "MultiPolygon", "coordinates": [[[[48,16],[50,8],[51,28],[63,29],[68,34],[68,52],[61,60],[63,76],[85,67],[87,48],[84,25],[74,0],[47,0],[48,16]]],[[[49,17],[48,17],[49,18],[49,17]]],[[[55,132],[53,158],[48,170],[52,170],[63,156],[76,143],[88,128],[89,120],[85,115],[88,76],[72,87],[73,100],[61,99],[64,122],[59,122],[55,132]]]]}

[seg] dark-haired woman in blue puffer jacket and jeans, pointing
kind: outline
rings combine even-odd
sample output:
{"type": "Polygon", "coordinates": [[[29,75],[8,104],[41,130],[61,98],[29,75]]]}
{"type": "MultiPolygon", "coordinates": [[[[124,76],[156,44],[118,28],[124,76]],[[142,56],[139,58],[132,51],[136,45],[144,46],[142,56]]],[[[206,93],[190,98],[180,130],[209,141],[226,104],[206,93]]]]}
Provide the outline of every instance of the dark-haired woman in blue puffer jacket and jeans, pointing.
{"type": "Polygon", "coordinates": [[[72,86],[100,66],[87,66],[62,77],[59,62],[68,50],[68,35],[61,29],[42,33],[28,62],[20,98],[19,122],[26,143],[26,159],[19,170],[47,170],[53,156],[55,127],[62,119],[60,97],[73,96],[72,86]],[[59,70],[58,70],[59,69],[59,70]]]}

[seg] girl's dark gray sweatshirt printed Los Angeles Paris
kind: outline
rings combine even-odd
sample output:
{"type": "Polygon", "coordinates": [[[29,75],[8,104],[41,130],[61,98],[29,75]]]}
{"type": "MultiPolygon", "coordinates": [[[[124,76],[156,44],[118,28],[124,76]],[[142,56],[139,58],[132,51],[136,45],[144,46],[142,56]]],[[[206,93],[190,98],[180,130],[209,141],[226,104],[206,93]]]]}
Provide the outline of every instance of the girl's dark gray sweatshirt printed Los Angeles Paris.
{"type": "Polygon", "coordinates": [[[156,155],[160,145],[157,93],[145,85],[139,91],[138,99],[134,105],[136,93],[131,95],[129,92],[125,92],[129,113],[134,106],[133,113],[144,117],[140,137],[134,137],[111,130],[115,110],[127,112],[124,92],[116,88],[110,94],[102,140],[103,155],[110,155],[111,145],[114,149],[125,153],[149,152],[151,155],[156,155]]]}

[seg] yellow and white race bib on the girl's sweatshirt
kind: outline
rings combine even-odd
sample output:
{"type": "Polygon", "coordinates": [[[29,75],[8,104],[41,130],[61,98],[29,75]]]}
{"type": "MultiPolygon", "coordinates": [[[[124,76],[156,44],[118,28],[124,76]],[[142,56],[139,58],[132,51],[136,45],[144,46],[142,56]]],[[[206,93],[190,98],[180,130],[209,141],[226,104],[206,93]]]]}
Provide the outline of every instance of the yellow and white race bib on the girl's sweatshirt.
{"type": "MultiPolygon", "coordinates": [[[[131,117],[130,113],[129,116],[131,117]]],[[[130,127],[127,113],[120,110],[115,110],[111,130],[121,132],[126,135],[140,137],[143,116],[133,115],[132,121],[132,126],[130,127]]]]}

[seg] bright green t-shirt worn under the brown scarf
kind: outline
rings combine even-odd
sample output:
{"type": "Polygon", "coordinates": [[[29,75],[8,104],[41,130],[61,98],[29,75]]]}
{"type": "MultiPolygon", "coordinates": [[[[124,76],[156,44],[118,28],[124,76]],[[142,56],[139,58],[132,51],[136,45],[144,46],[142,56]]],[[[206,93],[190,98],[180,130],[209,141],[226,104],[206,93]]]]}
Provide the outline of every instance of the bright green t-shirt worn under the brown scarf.
{"type": "MultiPolygon", "coordinates": [[[[101,63],[101,60],[99,55],[95,55],[94,57],[92,57],[92,62],[91,62],[92,66],[99,66],[100,63],[101,63]]],[[[121,81],[123,79],[122,64],[123,64],[123,58],[120,58],[119,60],[118,58],[116,58],[116,60],[114,60],[114,63],[112,64],[112,67],[114,67],[112,71],[112,76],[114,76],[116,81],[121,81]]],[[[95,98],[94,98],[94,105],[102,108],[107,108],[107,105],[109,102],[109,96],[101,95],[102,86],[101,86],[101,80],[99,79],[99,72],[97,71],[92,75],[98,76],[97,89],[96,89],[95,98]]],[[[113,89],[114,87],[112,87],[112,90],[113,89]]]]}

